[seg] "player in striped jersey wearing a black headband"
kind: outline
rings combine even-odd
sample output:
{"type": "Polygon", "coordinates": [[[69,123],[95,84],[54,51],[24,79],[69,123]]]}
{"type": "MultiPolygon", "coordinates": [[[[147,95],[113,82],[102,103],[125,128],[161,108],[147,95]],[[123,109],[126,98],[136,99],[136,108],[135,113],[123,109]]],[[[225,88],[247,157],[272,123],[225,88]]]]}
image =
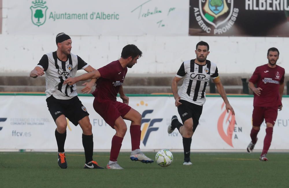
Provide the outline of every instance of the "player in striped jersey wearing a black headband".
{"type": "MultiPolygon", "coordinates": [[[[85,106],[77,97],[76,85],[64,85],[66,78],[74,77],[77,70],[84,69],[92,72],[95,69],[83,61],[79,56],[71,53],[72,40],[65,33],[56,36],[57,50],[44,54],[38,65],[31,71],[30,77],[37,78],[45,75],[46,82],[46,101],[48,110],[55,121],[55,138],[58,146],[58,165],[60,168],[67,168],[64,152],[66,139],[67,121],[66,117],[75,126],[78,124],[82,129],[82,144],[85,153],[84,168],[103,169],[96,161],[93,161],[93,135],[92,125],[88,118],[85,106]]],[[[86,83],[83,92],[89,93],[96,79],[86,83]]]]}

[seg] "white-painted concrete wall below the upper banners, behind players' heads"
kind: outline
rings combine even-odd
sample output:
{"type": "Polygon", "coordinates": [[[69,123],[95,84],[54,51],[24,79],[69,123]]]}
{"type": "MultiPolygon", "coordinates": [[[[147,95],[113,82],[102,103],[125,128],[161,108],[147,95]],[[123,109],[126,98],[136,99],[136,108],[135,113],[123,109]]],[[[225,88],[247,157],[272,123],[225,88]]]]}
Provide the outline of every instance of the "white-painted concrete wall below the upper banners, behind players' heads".
{"type": "MultiPolygon", "coordinates": [[[[0,34],[0,75],[29,73],[43,54],[56,50],[55,31],[51,35],[11,35],[6,29],[7,1],[3,1],[3,28],[0,34]]],[[[268,26],[270,27],[270,26],[268,26]]],[[[69,33],[67,33],[69,34],[69,33]]],[[[288,70],[287,37],[198,37],[198,36],[71,36],[72,53],[95,68],[120,57],[123,46],[136,44],[143,52],[129,74],[176,73],[180,64],[195,58],[200,40],[210,45],[208,59],[216,63],[219,73],[251,74],[256,66],[267,63],[268,48],[280,51],[278,65],[288,70]]]]}

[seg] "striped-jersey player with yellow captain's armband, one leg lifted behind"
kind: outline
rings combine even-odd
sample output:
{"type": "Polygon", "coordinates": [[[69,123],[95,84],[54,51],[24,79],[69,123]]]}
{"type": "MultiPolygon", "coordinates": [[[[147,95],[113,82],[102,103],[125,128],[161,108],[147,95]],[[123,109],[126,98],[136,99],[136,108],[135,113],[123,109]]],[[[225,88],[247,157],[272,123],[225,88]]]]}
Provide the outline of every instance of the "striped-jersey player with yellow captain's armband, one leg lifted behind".
{"type": "Polygon", "coordinates": [[[216,64],[207,60],[207,56],[210,53],[208,43],[203,41],[199,42],[196,46],[195,53],[197,58],[184,61],[172,81],[175,106],[178,108],[183,124],[179,122],[177,116],[173,116],[171,125],[168,126],[168,133],[172,133],[175,128],[177,128],[183,137],[183,165],[192,165],[190,161],[192,136],[199,124],[203,104],[205,104],[206,101],[205,89],[209,84],[210,78],[216,84],[218,92],[225,102],[227,112],[229,113],[229,110],[231,110],[232,114],[235,115],[235,112],[227,99],[216,64]],[[183,78],[184,82],[178,91],[177,83],[183,78]]]}

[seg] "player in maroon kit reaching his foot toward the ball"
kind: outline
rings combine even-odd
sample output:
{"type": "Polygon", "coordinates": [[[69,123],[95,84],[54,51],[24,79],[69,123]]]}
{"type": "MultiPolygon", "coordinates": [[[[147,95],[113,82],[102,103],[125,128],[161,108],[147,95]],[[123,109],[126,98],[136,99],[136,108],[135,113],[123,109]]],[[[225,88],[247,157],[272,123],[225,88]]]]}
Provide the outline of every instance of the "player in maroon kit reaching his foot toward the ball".
{"type": "Polygon", "coordinates": [[[108,169],[123,169],[117,163],[117,157],[121,149],[123,137],[127,131],[127,125],[124,119],[130,120],[131,135],[131,155],[132,161],[141,161],[143,163],[152,163],[153,160],[145,156],[140,151],[140,124],[141,114],[128,106],[129,97],[123,92],[123,81],[127,73],[127,67],[131,68],[137,63],[142,52],[133,44],[125,46],[121,52],[121,58],[112,61],[108,65],[101,67],[90,74],[83,74],[74,78],[67,78],[64,84],[73,85],[81,80],[97,79],[97,86],[92,95],[95,96],[93,108],[108,123],[116,134],[112,138],[110,151],[110,161],[108,169]],[[119,93],[123,103],[116,101],[117,93],[119,93]]]}

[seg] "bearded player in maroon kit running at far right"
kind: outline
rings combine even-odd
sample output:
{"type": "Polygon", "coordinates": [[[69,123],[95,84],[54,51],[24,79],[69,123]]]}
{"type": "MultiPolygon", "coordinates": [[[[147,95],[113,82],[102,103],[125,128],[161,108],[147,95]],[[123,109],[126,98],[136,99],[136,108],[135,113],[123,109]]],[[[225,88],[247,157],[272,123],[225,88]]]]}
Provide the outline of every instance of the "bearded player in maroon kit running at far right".
{"type": "Polygon", "coordinates": [[[273,126],[277,119],[278,109],[282,110],[285,69],[276,65],[278,58],[278,49],[270,48],[267,53],[268,64],[257,67],[248,84],[254,92],[253,128],[250,134],[252,141],[247,147],[248,153],[254,149],[258,140],[257,134],[264,119],[267,127],[260,161],[268,161],[266,154],[271,145],[273,126]],[[257,87],[254,84],[257,84],[257,87]]]}

